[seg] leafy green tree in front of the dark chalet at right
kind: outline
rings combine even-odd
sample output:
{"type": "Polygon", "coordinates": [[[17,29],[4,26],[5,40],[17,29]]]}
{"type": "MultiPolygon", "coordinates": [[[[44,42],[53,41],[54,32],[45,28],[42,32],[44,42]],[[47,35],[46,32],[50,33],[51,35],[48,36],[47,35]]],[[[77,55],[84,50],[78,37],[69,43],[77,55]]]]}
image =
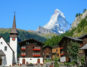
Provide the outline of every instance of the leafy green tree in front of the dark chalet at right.
{"type": "Polygon", "coordinates": [[[72,61],[77,64],[79,44],[76,42],[68,43],[67,52],[72,61]]]}

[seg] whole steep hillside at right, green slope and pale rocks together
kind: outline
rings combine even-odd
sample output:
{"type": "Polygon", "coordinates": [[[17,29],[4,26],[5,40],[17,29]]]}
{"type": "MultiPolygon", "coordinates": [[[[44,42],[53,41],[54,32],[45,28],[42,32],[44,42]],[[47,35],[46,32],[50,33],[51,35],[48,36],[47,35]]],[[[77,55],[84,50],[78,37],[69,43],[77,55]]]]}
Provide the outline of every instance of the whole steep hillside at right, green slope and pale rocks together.
{"type": "MultiPolygon", "coordinates": [[[[73,27],[74,31],[73,31],[72,36],[79,37],[81,35],[87,34],[87,10],[85,10],[83,13],[81,13],[79,16],[77,16],[76,19],[79,19],[79,20],[78,20],[78,22],[75,21],[73,23],[73,24],[77,24],[77,25],[76,25],[76,27],[73,27]]],[[[73,24],[72,24],[72,26],[73,26],[73,24]]]]}

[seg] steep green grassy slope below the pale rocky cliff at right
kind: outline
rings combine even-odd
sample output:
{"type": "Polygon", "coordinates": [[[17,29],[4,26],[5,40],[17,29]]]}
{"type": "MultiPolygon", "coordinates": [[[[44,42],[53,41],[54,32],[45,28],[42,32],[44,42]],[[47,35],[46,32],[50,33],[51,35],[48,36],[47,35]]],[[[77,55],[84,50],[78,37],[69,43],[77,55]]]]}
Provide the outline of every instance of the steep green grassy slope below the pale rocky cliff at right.
{"type": "Polygon", "coordinates": [[[87,34],[87,16],[80,21],[74,31],[73,37],[79,37],[84,34],[87,34]]]}

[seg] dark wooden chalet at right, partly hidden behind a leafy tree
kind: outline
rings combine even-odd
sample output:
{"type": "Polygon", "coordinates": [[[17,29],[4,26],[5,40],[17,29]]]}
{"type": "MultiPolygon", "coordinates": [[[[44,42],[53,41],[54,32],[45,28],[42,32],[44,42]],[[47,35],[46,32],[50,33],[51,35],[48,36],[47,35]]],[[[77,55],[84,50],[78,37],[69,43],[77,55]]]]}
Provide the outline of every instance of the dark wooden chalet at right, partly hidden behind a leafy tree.
{"type": "MultiPolygon", "coordinates": [[[[64,36],[62,38],[62,40],[59,42],[59,47],[63,48],[62,49],[63,56],[60,58],[60,61],[62,61],[62,62],[63,62],[63,60],[64,60],[64,62],[70,61],[70,59],[68,57],[68,54],[67,54],[67,46],[69,45],[69,43],[71,41],[77,42],[80,45],[82,45],[82,40],[81,39],[64,36]]],[[[61,51],[60,51],[60,53],[61,53],[61,51]]]]}

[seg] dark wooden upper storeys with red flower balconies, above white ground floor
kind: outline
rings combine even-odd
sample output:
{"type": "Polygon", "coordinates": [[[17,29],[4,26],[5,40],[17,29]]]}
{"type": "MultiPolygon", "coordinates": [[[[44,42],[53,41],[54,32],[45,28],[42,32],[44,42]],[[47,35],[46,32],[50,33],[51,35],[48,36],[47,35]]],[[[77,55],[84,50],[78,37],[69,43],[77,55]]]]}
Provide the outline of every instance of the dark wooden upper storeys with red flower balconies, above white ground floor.
{"type": "Polygon", "coordinates": [[[20,44],[20,57],[43,57],[43,44],[34,39],[25,40],[20,44]]]}

